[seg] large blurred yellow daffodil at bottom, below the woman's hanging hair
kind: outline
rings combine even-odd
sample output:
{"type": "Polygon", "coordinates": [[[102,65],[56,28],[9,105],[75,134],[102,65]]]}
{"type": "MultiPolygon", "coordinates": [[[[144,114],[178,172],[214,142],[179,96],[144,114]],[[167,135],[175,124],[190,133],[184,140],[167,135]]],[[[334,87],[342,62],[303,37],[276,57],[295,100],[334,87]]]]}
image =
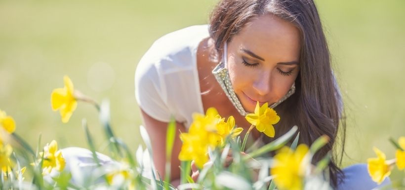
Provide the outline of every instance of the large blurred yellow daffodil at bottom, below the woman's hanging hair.
{"type": "Polygon", "coordinates": [[[303,178],[309,161],[305,159],[308,147],[301,144],[296,151],[283,147],[274,156],[274,165],[271,168],[274,182],[280,190],[302,190],[304,187],[303,178]]]}

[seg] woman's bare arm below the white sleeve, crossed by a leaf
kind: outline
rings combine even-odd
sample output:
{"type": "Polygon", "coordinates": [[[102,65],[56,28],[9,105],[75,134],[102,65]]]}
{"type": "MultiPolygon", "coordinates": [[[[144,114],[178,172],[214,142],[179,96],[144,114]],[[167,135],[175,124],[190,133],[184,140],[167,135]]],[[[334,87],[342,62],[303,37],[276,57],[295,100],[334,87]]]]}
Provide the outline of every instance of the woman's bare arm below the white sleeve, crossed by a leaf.
{"type": "MultiPolygon", "coordinates": [[[[152,154],[153,162],[159,174],[164,177],[165,163],[166,163],[166,131],[167,122],[156,120],[146,114],[142,109],[142,117],[145,124],[146,131],[148,132],[152,141],[152,154]]],[[[171,154],[171,168],[170,178],[173,186],[180,184],[180,160],[178,155],[181,150],[181,140],[179,138],[180,132],[186,132],[183,124],[176,122],[176,138],[174,140],[173,150],[171,154]]]]}

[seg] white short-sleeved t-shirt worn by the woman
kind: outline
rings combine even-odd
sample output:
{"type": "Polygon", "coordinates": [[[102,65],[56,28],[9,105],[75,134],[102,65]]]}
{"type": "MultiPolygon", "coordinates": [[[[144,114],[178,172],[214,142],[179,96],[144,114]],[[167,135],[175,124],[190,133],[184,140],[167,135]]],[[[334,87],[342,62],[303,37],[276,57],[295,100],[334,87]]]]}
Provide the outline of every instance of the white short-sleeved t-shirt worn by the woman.
{"type": "Polygon", "coordinates": [[[187,27],[156,40],[139,61],[135,97],[151,117],[168,122],[171,115],[188,128],[193,113],[202,113],[197,48],[209,37],[208,25],[187,27]]]}

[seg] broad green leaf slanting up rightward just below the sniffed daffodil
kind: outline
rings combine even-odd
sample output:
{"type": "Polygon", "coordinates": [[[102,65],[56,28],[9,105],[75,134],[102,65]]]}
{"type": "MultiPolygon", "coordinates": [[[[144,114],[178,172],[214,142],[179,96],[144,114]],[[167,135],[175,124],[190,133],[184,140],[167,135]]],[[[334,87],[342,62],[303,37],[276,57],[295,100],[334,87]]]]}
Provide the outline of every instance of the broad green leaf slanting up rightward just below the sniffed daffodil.
{"type": "Polygon", "coordinates": [[[248,155],[244,156],[243,159],[247,160],[251,157],[254,158],[254,157],[257,157],[264,153],[280,149],[291,139],[292,135],[294,135],[297,130],[298,130],[298,127],[293,126],[287,133],[285,133],[280,138],[274,140],[273,142],[255,150],[253,152],[250,152],[248,155]]]}

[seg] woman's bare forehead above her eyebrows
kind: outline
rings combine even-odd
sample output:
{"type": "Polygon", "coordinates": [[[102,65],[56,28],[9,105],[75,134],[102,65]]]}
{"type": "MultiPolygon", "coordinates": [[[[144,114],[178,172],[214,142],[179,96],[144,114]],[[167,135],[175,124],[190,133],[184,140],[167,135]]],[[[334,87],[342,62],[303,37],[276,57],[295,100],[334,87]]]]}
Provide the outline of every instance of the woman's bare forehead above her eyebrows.
{"type": "Polygon", "coordinates": [[[293,24],[273,14],[252,18],[232,42],[265,60],[298,61],[300,32],[293,24]]]}

